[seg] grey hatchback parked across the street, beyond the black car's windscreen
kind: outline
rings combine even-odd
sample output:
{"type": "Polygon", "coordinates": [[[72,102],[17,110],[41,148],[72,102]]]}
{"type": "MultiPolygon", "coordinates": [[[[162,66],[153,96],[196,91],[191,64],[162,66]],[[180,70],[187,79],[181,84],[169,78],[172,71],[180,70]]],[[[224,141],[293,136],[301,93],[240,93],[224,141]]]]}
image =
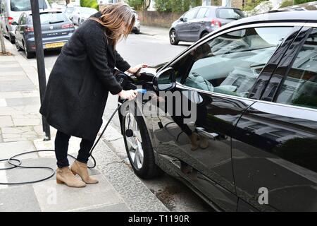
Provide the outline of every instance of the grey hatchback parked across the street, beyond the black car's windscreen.
{"type": "Polygon", "coordinates": [[[244,18],[238,8],[199,6],[175,20],[170,27],[170,44],[196,42],[223,25],[244,18]]]}

